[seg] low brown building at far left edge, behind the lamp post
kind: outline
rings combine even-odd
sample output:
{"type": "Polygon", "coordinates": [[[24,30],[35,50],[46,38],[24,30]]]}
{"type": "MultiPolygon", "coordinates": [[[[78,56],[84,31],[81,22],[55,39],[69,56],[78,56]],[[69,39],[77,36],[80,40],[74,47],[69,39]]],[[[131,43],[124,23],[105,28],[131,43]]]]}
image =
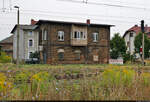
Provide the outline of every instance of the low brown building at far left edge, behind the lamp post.
{"type": "Polygon", "coordinates": [[[1,50],[4,51],[7,55],[13,55],[13,35],[5,38],[4,40],[0,41],[1,50]]]}

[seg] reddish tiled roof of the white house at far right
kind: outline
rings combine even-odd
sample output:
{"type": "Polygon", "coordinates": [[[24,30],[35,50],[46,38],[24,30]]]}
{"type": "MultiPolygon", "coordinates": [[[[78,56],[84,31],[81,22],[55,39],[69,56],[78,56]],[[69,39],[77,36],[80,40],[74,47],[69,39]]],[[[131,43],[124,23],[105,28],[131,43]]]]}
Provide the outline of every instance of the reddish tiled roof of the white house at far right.
{"type": "MultiPolygon", "coordinates": [[[[141,32],[141,27],[138,26],[138,25],[135,25],[135,26],[131,27],[130,29],[128,29],[125,32],[125,34],[123,35],[123,38],[126,36],[126,34],[128,32],[135,32],[136,34],[139,34],[141,32]]],[[[147,27],[147,26],[145,27],[145,33],[150,33],[150,27],[147,27]]],[[[150,36],[148,36],[148,37],[150,37],[150,36]]]]}

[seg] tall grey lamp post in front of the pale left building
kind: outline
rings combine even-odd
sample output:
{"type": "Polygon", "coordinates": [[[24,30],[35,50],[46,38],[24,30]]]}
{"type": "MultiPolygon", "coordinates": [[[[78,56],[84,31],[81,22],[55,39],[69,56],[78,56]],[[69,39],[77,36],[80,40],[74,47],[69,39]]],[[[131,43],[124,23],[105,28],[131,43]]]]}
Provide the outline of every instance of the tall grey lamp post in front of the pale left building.
{"type": "Polygon", "coordinates": [[[17,67],[19,67],[19,31],[20,31],[20,26],[19,26],[19,7],[18,6],[14,6],[14,8],[17,8],[17,60],[16,60],[16,64],[17,67]]]}

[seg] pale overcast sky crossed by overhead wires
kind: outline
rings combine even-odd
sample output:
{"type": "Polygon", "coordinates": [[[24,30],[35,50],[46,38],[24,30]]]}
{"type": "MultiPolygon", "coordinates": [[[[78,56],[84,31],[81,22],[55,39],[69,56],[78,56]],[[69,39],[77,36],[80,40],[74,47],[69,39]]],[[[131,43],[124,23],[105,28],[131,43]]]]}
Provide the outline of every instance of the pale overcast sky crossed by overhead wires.
{"type": "Polygon", "coordinates": [[[91,23],[115,25],[111,37],[115,33],[123,36],[141,20],[150,25],[150,0],[0,0],[0,40],[10,36],[17,23],[16,5],[20,24],[30,24],[31,19],[84,23],[90,19],[91,23]]]}

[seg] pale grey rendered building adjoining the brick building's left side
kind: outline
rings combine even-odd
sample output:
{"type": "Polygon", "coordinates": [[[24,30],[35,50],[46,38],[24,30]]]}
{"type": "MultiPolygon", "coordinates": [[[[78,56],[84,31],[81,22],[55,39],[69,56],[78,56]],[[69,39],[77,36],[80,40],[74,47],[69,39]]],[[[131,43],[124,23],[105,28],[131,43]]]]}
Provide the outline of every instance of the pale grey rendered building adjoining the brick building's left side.
{"type": "MultiPolygon", "coordinates": [[[[20,25],[19,33],[19,59],[25,61],[29,59],[30,54],[38,51],[38,31],[35,30],[36,21],[31,20],[31,25],[20,25]]],[[[13,59],[17,58],[17,25],[11,33],[13,36],[13,59]]]]}

